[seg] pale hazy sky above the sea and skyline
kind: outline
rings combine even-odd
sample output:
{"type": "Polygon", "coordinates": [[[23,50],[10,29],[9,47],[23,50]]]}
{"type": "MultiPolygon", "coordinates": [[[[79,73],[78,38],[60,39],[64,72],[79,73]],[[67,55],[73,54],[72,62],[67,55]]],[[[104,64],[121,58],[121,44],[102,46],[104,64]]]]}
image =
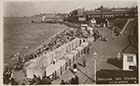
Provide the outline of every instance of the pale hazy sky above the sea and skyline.
{"type": "Polygon", "coordinates": [[[60,1],[7,1],[4,2],[5,17],[33,16],[41,13],[69,13],[77,8],[93,10],[104,7],[132,7],[135,1],[93,1],[93,0],[60,0],[60,1]]]}

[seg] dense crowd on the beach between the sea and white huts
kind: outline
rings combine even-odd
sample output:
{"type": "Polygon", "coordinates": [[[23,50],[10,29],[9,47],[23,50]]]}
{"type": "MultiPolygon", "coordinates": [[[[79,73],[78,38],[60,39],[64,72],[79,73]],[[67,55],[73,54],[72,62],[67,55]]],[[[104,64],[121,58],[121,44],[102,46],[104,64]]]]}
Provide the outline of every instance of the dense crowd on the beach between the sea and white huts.
{"type": "MultiPolygon", "coordinates": [[[[29,55],[18,55],[18,61],[16,62],[16,64],[14,64],[13,68],[14,70],[21,70],[24,67],[24,63],[30,61],[31,59],[39,57],[45,52],[52,51],[58,48],[59,46],[63,45],[64,43],[67,43],[75,38],[88,38],[93,36],[94,39],[97,40],[99,38],[99,32],[97,30],[93,30],[93,33],[94,34],[91,35],[88,30],[83,31],[80,28],[64,30],[63,32],[52,37],[49,43],[42,43],[41,47],[35,52],[29,55]]],[[[10,73],[11,70],[9,70],[8,72],[10,73]]],[[[7,71],[4,71],[5,84],[7,84],[5,80],[9,80],[9,77],[7,77],[6,73],[7,71]]]]}

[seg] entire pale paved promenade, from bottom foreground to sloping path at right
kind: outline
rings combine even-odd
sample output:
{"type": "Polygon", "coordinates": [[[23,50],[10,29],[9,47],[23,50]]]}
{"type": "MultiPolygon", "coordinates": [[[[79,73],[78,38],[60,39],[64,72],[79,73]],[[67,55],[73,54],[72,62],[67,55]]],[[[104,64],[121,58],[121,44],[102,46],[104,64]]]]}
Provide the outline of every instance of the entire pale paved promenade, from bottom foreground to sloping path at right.
{"type": "MultiPolygon", "coordinates": [[[[90,54],[86,55],[87,66],[78,68],[83,72],[78,71],[77,75],[80,78],[80,84],[93,84],[94,77],[94,60],[93,52],[97,52],[97,60],[96,60],[96,71],[101,69],[114,69],[121,70],[120,68],[107,63],[109,58],[116,58],[118,52],[121,52],[129,43],[128,43],[128,35],[131,32],[131,28],[133,27],[133,22],[130,21],[126,27],[126,30],[123,32],[122,36],[112,39],[112,32],[110,29],[99,29],[99,32],[108,38],[108,41],[100,41],[92,43],[90,47],[90,54]]],[[[72,73],[70,71],[65,72],[60,79],[53,81],[53,84],[59,84],[61,80],[68,81],[72,77],[72,73]]]]}

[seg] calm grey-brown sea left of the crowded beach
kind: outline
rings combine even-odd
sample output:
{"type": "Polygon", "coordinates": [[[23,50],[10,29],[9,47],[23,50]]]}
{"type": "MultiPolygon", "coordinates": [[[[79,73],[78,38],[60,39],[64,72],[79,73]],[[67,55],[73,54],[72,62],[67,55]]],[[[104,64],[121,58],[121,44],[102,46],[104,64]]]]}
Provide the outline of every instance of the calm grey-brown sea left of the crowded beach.
{"type": "Polygon", "coordinates": [[[62,24],[31,23],[32,17],[4,18],[4,64],[14,59],[13,55],[29,54],[37,50],[45,40],[69,27],[62,24]]]}

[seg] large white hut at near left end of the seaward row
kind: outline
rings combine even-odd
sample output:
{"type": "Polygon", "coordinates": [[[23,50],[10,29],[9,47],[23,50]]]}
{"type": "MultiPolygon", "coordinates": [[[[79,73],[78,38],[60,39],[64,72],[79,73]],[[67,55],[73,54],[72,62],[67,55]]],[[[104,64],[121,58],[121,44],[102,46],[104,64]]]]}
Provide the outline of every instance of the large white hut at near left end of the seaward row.
{"type": "Polygon", "coordinates": [[[26,65],[27,78],[33,78],[34,74],[42,78],[45,72],[45,67],[51,64],[51,57],[49,56],[49,53],[47,53],[30,60],[28,65],[26,65]]]}

